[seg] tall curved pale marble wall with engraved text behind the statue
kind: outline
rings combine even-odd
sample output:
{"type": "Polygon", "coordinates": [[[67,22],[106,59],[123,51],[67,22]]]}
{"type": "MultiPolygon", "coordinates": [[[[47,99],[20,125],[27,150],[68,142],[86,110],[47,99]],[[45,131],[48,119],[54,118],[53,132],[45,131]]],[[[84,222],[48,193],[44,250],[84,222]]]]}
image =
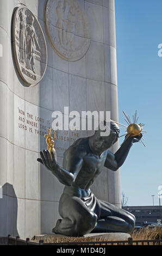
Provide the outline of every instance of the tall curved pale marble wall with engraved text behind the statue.
{"type": "MultiPolygon", "coordinates": [[[[51,233],[59,218],[58,203],[64,186],[36,161],[39,151],[46,148],[43,132],[51,125],[54,110],[63,114],[64,106],[69,106],[70,111],[107,110],[111,111],[111,119],[117,120],[114,0],[78,2],[90,20],[91,44],[82,59],[68,62],[54,52],[48,39],[45,0],[1,0],[0,185],[3,198],[0,199],[0,235],[25,238],[51,233]],[[23,4],[38,19],[48,51],[46,73],[33,87],[26,87],[19,77],[11,45],[13,13],[23,4]],[[33,121],[33,126],[27,125],[26,130],[23,125],[27,121],[33,121]],[[34,127],[34,123],[38,127],[34,127]]],[[[75,139],[91,134],[90,131],[58,133],[55,142],[58,162],[63,162],[65,148],[75,139]]],[[[92,191],[98,198],[120,206],[120,171],[104,169],[92,191]]]]}

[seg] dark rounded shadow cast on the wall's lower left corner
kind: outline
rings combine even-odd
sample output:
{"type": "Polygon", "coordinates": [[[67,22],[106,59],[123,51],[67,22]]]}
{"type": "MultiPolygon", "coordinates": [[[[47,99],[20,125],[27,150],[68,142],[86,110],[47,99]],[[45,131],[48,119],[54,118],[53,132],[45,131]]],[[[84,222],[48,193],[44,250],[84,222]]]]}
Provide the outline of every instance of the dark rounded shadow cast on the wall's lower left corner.
{"type": "Polygon", "coordinates": [[[0,192],[0,236],[18,236],[17,197],[13,185],[5,183],[0,192]],[[2,192],[2,193],[1,193],[2,192]],[[7,196],[9,192],[12,197],[7,196]]]}

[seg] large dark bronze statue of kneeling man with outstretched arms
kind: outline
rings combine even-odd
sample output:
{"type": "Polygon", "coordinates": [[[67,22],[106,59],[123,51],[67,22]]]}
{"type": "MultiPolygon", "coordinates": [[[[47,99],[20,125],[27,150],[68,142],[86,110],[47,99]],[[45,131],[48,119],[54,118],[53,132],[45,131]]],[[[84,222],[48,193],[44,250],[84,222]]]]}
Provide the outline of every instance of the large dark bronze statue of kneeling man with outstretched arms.
{"type": "Polygon", "coordinates": [[[59,219],[53,232],[67,236],[82,236],[92,232],[126,232],[134,229],[135,217],[113,204],[95,197],[90,186],[102,172],[103,167],[112,171],[119,169],[129,153],[133,143],[139,142],[138,136],[127,136],[115,154],[109,148],[119,138],[119,127],[111,122],[110,135],[95,134],[79,138],[64,153],[63,167],[55,161],[53,152],[40,152],[38,161],[65,185],[59,202],[59,219]]]}

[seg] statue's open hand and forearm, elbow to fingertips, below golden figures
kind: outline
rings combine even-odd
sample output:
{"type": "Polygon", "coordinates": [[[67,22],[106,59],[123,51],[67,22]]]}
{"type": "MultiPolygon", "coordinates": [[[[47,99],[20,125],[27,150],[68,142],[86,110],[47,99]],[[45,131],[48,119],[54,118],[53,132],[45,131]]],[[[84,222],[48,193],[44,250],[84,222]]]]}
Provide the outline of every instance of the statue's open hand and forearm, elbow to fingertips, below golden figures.
{"type": "Polygon", "coordinates": [[[51,152],[50,155],[49,151],[44,149],[43,152],[40,151],[40,155],[41,159],[38,158],[37,161],[46,166],[48,170],[51,170],[53,175],[55,175],[62,184],[66,186],[71,186],[73,184],[74,175],[65,170],[57,161],[55,161],[53,152],[51,152]]]}

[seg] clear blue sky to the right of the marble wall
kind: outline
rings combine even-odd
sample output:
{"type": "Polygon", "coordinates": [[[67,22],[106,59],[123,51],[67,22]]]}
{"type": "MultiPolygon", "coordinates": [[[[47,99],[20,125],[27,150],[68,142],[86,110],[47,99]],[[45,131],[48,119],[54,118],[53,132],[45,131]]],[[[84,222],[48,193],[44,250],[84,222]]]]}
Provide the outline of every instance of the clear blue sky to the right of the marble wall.
{"type": "MultiPolygon", "coordinates": [[[[135,143],[121,167],[121,190],[128,205],[159,205],[162,184],[162,44],[161,0],[115,0],[119,121],[122,110],[138,111],[145,123],[145,148],[135,143]]],[[[121,135],[124,130],[121,130],[121,135]]],[[[123,139],[121,138],[121,142],[123,139]]],[[[162,203],[162,199],[161,199],[162,203]]]]}

